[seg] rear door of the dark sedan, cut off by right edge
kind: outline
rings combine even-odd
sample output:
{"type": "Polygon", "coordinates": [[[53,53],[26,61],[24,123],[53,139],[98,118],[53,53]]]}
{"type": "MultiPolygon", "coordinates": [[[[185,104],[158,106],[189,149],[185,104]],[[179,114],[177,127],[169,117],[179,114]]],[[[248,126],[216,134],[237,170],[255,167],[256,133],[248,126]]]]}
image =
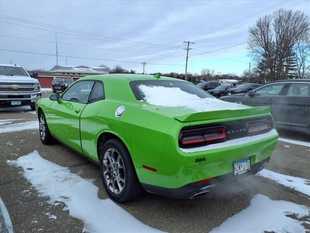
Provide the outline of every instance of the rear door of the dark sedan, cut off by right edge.
{"type": "Polygon", "coordinates": [[[280,96],[277,108],[277,123],[281,126],[309,128],[310,83],[290,83],[284,95],[280,96]]]}

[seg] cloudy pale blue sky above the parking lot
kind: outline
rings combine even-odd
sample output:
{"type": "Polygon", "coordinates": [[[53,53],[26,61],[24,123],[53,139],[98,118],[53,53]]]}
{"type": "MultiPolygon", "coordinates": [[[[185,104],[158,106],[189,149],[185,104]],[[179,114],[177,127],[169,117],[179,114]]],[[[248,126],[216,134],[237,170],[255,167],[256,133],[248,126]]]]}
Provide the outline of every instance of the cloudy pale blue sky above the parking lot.
{"type": "Polygon", "coordinates": [[[1,0],[0,62],[51,69],[56,56],[4,50],[55,55],[56,27],[59,65],[66,65],[67,56],[68,66],[121,65],[142,72],[140,63],[146,62],[147,73],[185,73],[183,41],[189,40],[195,44],[190,44],[188,72],[211,68],[216,74],[241,74],[251,62],[247,44],[242,44],[247,41],[248,26],[279,8],[310,15],[310,1],[305,0],[1,0]]]}

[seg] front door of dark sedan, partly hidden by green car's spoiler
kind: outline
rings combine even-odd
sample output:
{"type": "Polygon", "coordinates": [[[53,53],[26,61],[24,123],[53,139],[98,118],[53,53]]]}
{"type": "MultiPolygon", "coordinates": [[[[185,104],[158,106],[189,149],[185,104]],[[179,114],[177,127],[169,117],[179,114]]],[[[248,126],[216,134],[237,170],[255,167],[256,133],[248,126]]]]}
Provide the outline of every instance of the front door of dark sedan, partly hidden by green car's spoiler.
{"type": "Polygon", "coordinates": [[[249,106],[270,106],[272,116],[277,116],[277,102],[279,95],[282,93],[286,83],[270,83],[266,84],[254,91],[254,95],[246,95],[242,103],[249,106]]]}

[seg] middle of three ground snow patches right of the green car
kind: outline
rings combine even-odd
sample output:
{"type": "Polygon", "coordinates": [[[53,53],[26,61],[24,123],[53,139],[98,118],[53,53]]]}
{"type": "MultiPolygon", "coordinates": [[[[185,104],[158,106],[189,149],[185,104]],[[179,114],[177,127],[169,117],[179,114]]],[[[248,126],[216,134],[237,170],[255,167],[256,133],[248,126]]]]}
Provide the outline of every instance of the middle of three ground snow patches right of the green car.
{"type": "Polygon", "coordinates": [[[261,170],[259,173],[257,173],[257,175],[274,180],[277,183],[293,188],[310,196],[310,180],[295,176],[282,175],[266,169],[261,170]]]}

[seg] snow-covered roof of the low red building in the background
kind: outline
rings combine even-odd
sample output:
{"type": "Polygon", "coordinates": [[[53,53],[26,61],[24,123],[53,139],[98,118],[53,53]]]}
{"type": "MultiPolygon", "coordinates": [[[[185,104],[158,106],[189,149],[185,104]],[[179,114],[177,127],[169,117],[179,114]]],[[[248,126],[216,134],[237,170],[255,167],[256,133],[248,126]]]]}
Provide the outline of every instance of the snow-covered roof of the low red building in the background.
{"type": "Polygon", "coordinates": [[[54,66],[50,72],[77,72],[77,73],[93,73],[93,74],[107,74],[109,67],[86,67],[86,66],[54,66]]]}

